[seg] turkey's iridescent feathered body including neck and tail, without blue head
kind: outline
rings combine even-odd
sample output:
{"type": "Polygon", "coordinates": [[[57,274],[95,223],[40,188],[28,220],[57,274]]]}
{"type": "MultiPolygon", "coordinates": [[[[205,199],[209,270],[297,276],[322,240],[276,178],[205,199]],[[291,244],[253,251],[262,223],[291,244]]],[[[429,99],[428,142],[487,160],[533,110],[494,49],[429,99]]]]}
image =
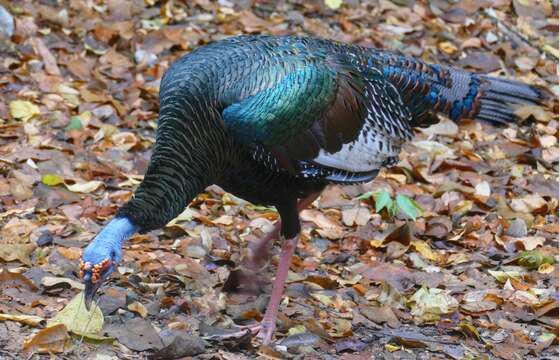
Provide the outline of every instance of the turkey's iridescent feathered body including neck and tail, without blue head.
{"type": "Polygon", "coordinates": [[[304,37],[242,36],[184,56],[161,82],[156,144],[117,216],[164,226],[206,186],[276,206],[299,231],[296,201],[327,184],[372,180],[414,126],[437,112],[493,123],[535,88],[377,49],[304,37]]]}

